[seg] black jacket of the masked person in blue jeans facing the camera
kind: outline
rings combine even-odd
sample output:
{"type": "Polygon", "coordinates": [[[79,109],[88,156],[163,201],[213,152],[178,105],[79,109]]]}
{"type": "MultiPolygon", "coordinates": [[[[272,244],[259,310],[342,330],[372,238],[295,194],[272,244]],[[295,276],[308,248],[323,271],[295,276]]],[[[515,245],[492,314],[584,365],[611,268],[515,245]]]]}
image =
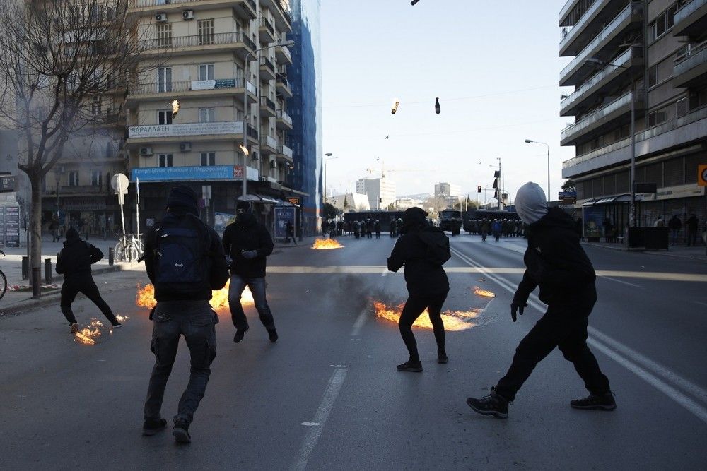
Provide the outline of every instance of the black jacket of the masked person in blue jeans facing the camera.
{"type": "Polygon", "coordinates": [[[223,231],[223,250],[230,256],[230,273],[243,278],[264,278],[265,258],[272,254],[275,244],[267,228],[251,216],[245,222],[233,222],[223,231]],[[257,250],[258,255],[248,260],[243,251],[257,250]]]}

